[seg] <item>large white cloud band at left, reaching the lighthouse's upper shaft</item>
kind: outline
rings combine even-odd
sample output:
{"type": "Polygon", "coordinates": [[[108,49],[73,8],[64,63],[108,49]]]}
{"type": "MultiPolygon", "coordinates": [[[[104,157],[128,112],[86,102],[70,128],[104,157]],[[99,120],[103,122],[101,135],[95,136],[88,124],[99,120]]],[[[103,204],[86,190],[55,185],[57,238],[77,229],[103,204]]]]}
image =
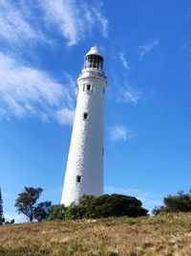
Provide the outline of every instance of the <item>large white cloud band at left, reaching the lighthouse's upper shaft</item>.
{"type": "Polygon", "coordinates": [[[35,115],[43,121],[56,119],[60,124],[72,123],[69,113],[74,111],[74,95],[70,85],[63,86],[46,72],[23,65],[1,52],[0,77],[1,117],[35,115]],[[65,113],[60,119],[59,111],[65,113]]]}

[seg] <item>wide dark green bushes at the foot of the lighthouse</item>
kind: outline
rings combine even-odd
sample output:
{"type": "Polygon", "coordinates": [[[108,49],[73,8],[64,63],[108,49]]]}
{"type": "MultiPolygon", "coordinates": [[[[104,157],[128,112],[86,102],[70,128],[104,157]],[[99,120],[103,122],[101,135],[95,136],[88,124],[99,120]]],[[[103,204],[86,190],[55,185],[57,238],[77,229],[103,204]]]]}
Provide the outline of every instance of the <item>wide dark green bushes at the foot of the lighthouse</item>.
{"type": "Polygon", "coordinates": [[[142,208],[137,198],[123,195],[103,195],[93,197],[84,195],[77,204],[70,206],[53,205],[49,220],[79,220],[107,217],[140,217],[147,216],[148,210],[142,208]]]}

